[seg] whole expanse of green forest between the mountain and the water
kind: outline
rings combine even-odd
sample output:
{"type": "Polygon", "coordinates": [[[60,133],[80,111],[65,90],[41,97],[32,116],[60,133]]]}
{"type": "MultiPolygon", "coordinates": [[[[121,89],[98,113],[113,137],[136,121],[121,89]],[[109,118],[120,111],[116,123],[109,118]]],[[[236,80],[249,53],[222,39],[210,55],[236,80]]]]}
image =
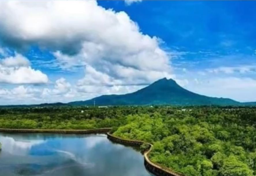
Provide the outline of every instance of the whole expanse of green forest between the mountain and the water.
{"type": "Polygon", "coordinates": [[[125,139],[152,143],[153,162],[187,176],[256,175],[253,107],[0,108],[0,128],[103,127],[112,127],[114,135],[125,139]]]}

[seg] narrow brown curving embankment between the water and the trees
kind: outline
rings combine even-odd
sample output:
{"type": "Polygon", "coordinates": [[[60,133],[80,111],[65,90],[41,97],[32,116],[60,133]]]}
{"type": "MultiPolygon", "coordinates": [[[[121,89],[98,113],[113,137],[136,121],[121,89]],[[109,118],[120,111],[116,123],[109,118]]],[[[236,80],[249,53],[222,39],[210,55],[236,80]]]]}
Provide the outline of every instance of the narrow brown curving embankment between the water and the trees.
{"type": "MultiPolygon", "coordinates": [[[[144,141],[138,141],[138,140],[130,140],[130,139],[122,139],[120,137],[116,137],[112,134],[110,134],[110,130],[112,128],[99,128],[99,129],[87,129],[87,130],[63,130],[63,129],[4,129],[0,128],[0,132],[6,132],[6,133],[62,133],[62,134],[96,134],[96,133],[104,133],[107,135],[107,138],[110,141],[123,144],[126,146],[136,146],[139,147],[142,144],[149,145],[149,148],[147,148],[144,151],[144,166],[150,173],[156,175],[156,176],[185,176],[183,174],[177,173],[167,167],[163,167],[159,164],[156,164],[152,161],[150,161],[148,154],[151,152],[153,144],[144,142],[144,141]]],[[[0,143],[1,144],[1,143],[0,143]]],[[[0,148],[1,150],[1,148],[0,148]]]]}

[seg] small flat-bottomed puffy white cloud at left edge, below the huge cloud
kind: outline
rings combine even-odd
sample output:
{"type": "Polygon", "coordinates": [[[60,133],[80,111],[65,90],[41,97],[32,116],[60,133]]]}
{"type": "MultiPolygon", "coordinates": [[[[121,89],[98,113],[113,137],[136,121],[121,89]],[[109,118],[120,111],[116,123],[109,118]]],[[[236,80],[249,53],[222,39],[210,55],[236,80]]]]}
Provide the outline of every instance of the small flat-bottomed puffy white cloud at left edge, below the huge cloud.
{"type": "Polygon", "coordinates": [[[47,75],[31,68],[29,60],[20,54],[0,60],[0,83],[39,84],[47,82],[47,75]]]}

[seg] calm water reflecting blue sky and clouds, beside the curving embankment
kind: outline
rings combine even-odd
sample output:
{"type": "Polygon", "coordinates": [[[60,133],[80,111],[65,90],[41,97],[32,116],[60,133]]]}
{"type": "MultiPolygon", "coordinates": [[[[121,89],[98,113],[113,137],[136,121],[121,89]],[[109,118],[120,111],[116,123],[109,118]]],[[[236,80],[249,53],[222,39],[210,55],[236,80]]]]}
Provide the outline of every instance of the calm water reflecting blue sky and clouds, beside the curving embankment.
{"type": "Polygon", "coordinates": [[[143,156],[106,135],[0,133],[0,176],[149,176],[143,156]]]}

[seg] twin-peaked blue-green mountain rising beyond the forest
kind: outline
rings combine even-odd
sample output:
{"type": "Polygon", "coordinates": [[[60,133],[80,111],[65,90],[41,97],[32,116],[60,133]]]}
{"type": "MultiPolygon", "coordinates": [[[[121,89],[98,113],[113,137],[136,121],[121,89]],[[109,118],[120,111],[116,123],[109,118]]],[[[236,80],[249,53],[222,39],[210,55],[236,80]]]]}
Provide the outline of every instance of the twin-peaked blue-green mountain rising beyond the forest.
{"type": "MultiPolygon", "coordinates": [[[[102,95],[91,100],[70,102],[70,105],[220,105],[240,106],[242,103],[229,98],[216,98],[190,92],[173,79],[160,79],[133,93],[102,95]]],[[[248,104],[249,105],[249,104],[248,104]]]]}

